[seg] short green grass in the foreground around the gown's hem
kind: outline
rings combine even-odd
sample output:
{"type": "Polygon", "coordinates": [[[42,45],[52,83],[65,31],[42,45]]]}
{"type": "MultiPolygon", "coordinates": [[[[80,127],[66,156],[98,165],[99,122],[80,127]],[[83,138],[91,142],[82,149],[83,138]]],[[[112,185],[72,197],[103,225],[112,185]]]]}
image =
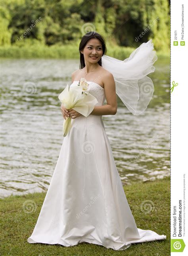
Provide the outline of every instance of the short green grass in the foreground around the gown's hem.
{"type": "Polygon", "coordinates": [[[104,246],[83,242],[76,246],[30,244],[27,238],[33,232],[45,193],[33,193],[23,196],[11,195],[0,199],[1,248],[0,255],[170,255],[170,178],[153,182],[133,183],[124,186],[130,209],[140,229],[150,229],[159,235],[167,235],[166,240],[132,244],[127,250],[115,251],[104,246]],[[28,214],[23,211],[26,200],[35,201],[36,211],[28,214]],[[144,213],[140,205],[151,200],[153,211],[144,213]]]}

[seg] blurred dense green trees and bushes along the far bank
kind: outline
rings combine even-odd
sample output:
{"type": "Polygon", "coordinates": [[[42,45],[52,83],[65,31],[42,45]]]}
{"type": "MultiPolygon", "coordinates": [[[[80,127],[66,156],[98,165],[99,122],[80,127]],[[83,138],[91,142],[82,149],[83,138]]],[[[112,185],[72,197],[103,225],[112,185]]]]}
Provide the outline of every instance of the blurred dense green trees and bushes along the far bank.
{"type": "Polygon", "coordinates": [[[0,46],[78,45],[94,30],[114,46],[170,47],[168,0],[1,0],[0,23],[0,46]]]}

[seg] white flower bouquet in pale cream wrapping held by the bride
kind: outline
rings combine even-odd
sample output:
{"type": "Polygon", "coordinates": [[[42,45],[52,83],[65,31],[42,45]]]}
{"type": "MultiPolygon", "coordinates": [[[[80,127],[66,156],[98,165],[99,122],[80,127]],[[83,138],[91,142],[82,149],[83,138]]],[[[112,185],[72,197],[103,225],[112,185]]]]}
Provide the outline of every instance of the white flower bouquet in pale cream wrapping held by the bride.
{"type": "MultiPolygon", "coordinates": [[[[87,117],[98,103],[98,100],[93,95],[86,92],[88,86],[89,84],[86,79],[81,78],[77,86],[71,86],[69,88],[69,85],[67,84],[63,92],[59,94],[58,98],[66,109],[72,108],[87,117]]],[[[63,137],[69,133],[70,129],[71,117],[67,117],[66,120],[63,121],[63,137]]]]}

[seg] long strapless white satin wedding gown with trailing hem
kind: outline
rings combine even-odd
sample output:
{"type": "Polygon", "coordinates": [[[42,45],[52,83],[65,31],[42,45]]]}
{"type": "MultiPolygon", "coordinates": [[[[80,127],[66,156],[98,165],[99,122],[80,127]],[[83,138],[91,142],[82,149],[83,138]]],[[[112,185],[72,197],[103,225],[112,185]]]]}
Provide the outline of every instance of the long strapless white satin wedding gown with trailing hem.
{"type": "MultiPolygon", "coordinates": [[[[71,86],[77,86],[74,81],[71,86]]],[[[104,88],[87,81],[102,106],[104,88]]],[[[81,242],[125,250],[132,243],[166,239],[138,229],[131,213],[101,115],[71,119],[29,243],[81,242]]]]}

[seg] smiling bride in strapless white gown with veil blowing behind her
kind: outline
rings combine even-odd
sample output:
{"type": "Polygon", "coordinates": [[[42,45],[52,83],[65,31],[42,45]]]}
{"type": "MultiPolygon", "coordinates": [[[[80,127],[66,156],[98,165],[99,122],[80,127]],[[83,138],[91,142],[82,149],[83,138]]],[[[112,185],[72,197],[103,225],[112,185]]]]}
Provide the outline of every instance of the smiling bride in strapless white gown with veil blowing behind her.
{"type": "Polygon", "coordinates": [[[123,62],[104,55],[105,41],[98,33],[89,32],[82,37],[81,66],[73,72],[71,86],[85,78],[88,92],[98,103],[88,117],[61,105],[63,117],[71,117],[71,129],[63,137],[40,215],[27,239],[29,243],[74,246],[88,242],[125,250],[132,243],[166,239],[165,235],[136,227],[102,120],[102,115],[115,115],[116,94],[133,114],[146,109],[153,92],[141,95],[139,83],[149,81],[150,89],[153,85],[146,76],[154,71],[152,64],[156,60],[151,41],[123,62]],[[139,64],[143,68],[138,71],[139,64]],[[105,99],[107,104],[103,105],[105,99]]]}

